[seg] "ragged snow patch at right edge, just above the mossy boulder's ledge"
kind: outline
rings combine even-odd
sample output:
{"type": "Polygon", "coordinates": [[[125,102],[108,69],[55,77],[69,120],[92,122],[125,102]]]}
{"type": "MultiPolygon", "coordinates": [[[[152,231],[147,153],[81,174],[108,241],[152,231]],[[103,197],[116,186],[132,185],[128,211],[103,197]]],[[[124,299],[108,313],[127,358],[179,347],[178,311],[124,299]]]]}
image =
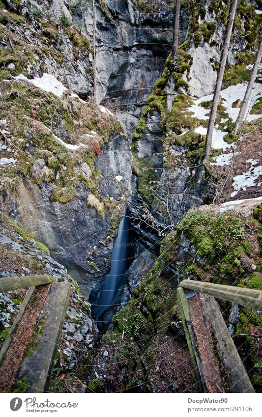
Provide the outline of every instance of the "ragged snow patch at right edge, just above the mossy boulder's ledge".
{"type": "Polygon", "coordinates": [[[231,197],[234,197],[238,193],[238,191],[243,190],[245,191],[248,187],[255,187],[259,184],[255,184],[255,180],[262,175],[262,166],[259,165],[255,167],[259,163],[259,160],[248,159],[247,163],[251,164],[251,167],[248,169],[247,172],[243,172],[241,175],[236,175],[233,178],[233,193],[231,193],[231,197]]]}

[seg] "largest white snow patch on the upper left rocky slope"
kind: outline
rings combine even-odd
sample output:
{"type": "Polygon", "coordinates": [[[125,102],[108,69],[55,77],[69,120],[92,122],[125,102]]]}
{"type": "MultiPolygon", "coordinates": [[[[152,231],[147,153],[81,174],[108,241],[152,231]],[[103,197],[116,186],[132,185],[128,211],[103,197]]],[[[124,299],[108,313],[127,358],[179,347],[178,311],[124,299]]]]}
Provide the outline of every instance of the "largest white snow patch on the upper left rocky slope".
{"type": "Polygon", "coordinates": [[[31,80],[29,80],[23,74],[20,74],[14,78],[16,80],[27,81],[28,83],[31,83],[38,88],[41,88],[41,90],[53,93],[58,97],[61,97],[63,93],[67,91],[67,88],[62,83],[60,83],[60,81],[58,81],[56,77],[54,77],[54,75],[47,74],[46,72],[44,72],[43,77],[34,77],[31,80]]]}

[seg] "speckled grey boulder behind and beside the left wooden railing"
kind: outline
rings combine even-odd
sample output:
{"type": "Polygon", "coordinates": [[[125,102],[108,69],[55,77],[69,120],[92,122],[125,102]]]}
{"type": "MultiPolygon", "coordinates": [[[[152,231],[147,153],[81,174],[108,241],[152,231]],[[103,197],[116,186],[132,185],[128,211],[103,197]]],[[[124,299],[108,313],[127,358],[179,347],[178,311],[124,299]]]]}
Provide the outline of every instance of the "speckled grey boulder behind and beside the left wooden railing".
{"type": "MultiPolygon", "coordinates": [[[[66,268],[50,256],[43,244],[31,239],[29,232],[21,224],[8,220],[7,217],[1,220],[0,277],[47,274],[55,277],[57,281],[71,282],[69,307],[58,350],[60,355],[54,372],[60,374],[62,371],[70,370],[74,373],[76,365],[79,366],[81,361],[87,361],[90,349],[93,347],[93,336],[96,331],[91,318],[90,305],[78,284],[68,275],[66,268]]],[[[0,294],[0,343],[4,339],[3,330],[10,330],[26,292],[20,290],[0,294]]]]}

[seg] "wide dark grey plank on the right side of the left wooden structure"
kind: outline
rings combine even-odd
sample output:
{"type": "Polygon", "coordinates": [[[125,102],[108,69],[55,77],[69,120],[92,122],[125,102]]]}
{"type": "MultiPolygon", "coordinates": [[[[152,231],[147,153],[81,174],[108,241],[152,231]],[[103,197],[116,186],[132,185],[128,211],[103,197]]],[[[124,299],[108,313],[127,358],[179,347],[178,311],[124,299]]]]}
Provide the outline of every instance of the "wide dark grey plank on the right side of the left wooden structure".
{"type": "Polygon", "coordinates": [[[26,392],[46,392],[55,364],[58,344],[71,292],[70,282],[54,282],[39,316],[39,332],[26,352],[16,380],[27,381],[26,392]]]}

